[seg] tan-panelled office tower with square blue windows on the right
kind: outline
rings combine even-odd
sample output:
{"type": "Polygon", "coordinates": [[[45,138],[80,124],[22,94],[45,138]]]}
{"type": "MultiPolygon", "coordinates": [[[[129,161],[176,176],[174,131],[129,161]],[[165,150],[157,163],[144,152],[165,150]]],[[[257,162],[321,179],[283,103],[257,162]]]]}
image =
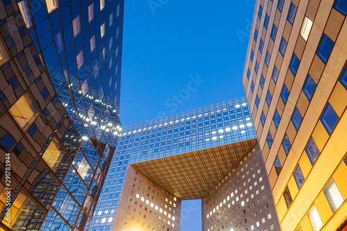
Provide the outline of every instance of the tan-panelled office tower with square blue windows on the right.
{"type": "Polygon", "coordinates": [[[346,230],[347,1],[256,1],[243,84],[282,230],[346,230]]]}

